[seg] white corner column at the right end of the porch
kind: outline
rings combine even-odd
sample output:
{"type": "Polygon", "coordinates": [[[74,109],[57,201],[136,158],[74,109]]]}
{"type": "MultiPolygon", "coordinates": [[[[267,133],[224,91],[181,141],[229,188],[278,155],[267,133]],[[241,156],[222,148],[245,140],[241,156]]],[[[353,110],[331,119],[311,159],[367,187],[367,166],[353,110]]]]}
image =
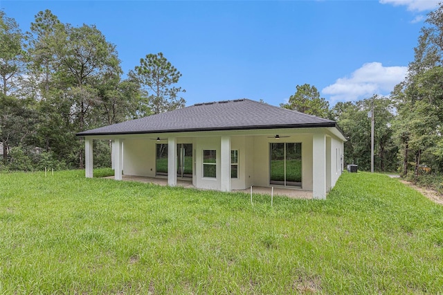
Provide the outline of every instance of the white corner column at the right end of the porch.
{"type": "Polygon", "coordinates": [[[312,138],[312,197],[326,199],[326,136],[314,134],[312,138]]]}

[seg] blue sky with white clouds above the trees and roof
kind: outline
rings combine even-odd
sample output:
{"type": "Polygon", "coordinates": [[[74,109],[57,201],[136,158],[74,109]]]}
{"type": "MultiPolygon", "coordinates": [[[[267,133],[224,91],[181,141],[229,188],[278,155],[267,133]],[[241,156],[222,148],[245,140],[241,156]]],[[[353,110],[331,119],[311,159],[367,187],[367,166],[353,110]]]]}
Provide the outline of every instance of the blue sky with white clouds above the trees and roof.
{"type": "Polygon", "coordinates": [[[95,24],[123,71],[163,52],[183,74],[186,105],[250,98],[286,102],[311,84],[331,105],[388,95],[413,61],[438,1],[9,1],[21,30],[40,10],[95,24]]]}

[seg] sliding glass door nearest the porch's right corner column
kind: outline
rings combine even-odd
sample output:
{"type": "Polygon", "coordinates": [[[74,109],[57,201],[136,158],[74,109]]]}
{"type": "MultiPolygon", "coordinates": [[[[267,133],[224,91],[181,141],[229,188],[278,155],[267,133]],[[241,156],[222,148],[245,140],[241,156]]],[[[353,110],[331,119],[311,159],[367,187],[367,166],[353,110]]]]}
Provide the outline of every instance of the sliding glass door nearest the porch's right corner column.
{"type": "Polygon", "coordinates": [[[269,184],[302,186],[302,144],[271,143],[269,184]]]}

